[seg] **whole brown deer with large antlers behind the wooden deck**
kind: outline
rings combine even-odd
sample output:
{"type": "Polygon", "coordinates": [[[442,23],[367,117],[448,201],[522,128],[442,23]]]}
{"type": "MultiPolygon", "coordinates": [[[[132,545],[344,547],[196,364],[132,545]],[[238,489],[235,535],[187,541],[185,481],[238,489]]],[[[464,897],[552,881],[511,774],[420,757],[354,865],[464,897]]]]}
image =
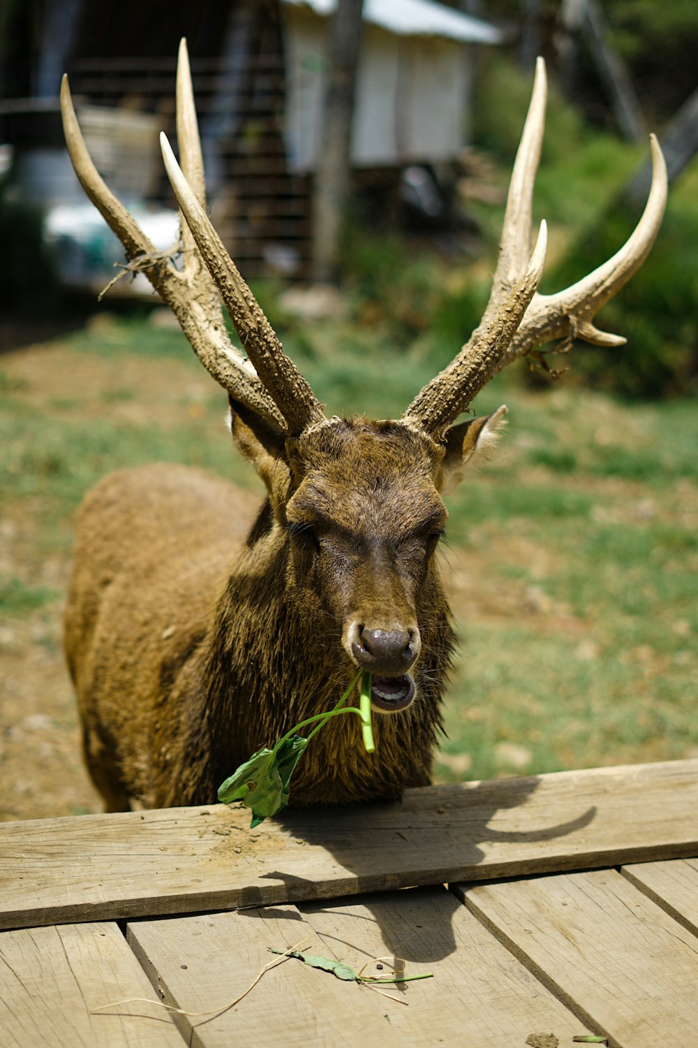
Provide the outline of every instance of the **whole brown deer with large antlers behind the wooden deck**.
{"type": "Polygon", "coordinates": [[[470,406],[494,374],[548,342],[625,343],[593,320],[644,263],[667,199],[651,136],[652,184],[625,245],[564,290],[539,292],[544,222],[530,244],[545,99],[538,60],[478,327],[401,418],[328,418],[208,218],[185,42],[180,162],[161,136],[180,209],[178,263],[103,181],[64,78],[76,175],[130,268],[148,274],[227,392],[232,440],[266,490],[258,505],[223,479],[156,463],[109,475],[78,511],[65,649],[107,811],[213,803],[253,750],[331,709],[359,670],[371,675],[375,754],[358,718],[336,718],[298,765],[290,805],[395,801],[429,784],[455,643],[435,556],[444,495],[487,458],[506,414],[475,417],[470,406]]]}

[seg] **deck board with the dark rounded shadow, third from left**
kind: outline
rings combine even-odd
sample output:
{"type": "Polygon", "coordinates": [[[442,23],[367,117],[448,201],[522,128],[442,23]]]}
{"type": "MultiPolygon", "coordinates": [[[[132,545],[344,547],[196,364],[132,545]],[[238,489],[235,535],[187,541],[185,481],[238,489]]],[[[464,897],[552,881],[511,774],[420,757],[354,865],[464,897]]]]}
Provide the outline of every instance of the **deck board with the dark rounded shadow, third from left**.
{"type": "MultiPolygon", "coordinates": [[[[374,1006],[410,1045],[524,1045],[531,1033],[562,1040],[586,1032],[570,1011],[444,888],[418,888],[307,902],[306,920],[355,970],[377,957],[405,960],[405,975],[433,979],[388,988],[409,1007],[371,994],[374,1006]]],[[[384,969],[389,967],[385,962],[384,969]]],[[[375,966],[374,966],[375,968],[375,966]]],[[[567,1041],[565,1041],[567,1043],[567,1041]]]]}

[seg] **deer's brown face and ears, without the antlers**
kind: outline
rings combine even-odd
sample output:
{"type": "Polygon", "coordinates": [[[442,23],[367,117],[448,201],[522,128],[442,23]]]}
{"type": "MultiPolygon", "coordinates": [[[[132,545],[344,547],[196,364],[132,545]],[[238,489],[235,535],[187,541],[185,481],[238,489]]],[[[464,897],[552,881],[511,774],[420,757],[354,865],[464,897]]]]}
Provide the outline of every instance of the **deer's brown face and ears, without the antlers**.
{"type": "Polygon", "coordinates": [[[309,650],[341,638],[348,659],[374,674],[378,709],[402,709],[414,697],[409,671],[447,518],[441,492],[504,414],[468,419],[441,441],[404,421],[361,417],[320,420],[289,437],[231,402],[235,443],[265,480],[272,526],[289,544],[290,592],[319,623],[309,650]]]}

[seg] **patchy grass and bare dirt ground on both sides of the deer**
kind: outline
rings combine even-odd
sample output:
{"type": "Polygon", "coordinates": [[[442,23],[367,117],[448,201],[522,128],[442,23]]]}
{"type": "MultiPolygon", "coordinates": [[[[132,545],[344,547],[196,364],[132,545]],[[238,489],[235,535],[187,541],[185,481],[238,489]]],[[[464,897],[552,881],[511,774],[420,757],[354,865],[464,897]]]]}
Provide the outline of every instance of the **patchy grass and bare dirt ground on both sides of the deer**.
{"type": "MultiPolygon", "coordinates": [[[[397,416],[434,370],[424,346],[391,349],[377,328],[282,333],[329,413],[397,416]]],[[[179,334],[104,320],[38,361],[16,354],[0,373],[10,623],[58,614],[72,515],[109,470],[177,460],[254,482],[223,430],[224,395],[179,334]],[[71,375],[61,388],[54,368],[71,375]]],[[[460,645],[442,780],[698,749],[696,402],[617,403],[570,378],[534,390],[501,375],[476,406],[506,402],[510,427],[499,464],[448,501],[460,645]]]]}

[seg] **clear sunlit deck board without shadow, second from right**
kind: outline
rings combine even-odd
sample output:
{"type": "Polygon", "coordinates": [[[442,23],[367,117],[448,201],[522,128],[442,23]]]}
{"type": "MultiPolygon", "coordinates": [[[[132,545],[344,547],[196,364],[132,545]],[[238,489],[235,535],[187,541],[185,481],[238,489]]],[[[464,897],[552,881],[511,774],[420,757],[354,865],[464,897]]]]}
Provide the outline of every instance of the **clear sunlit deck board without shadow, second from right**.
{"type": "Polygon", "coordinates": [[[696,940],[615,870],[459,891],[613,1048],[698,1045],[696,940]]]}

